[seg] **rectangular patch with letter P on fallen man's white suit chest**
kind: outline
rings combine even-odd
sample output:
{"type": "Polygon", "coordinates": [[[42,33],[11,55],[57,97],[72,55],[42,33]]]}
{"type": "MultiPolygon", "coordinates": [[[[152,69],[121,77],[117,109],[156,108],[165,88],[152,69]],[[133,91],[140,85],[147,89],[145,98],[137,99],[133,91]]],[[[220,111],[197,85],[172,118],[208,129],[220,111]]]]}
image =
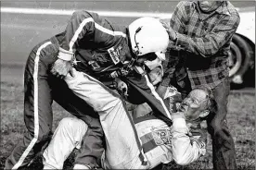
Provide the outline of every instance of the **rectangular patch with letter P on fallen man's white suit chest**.
{"type": "Polygon", "coordinates": [[[157,145],[166,145],[172,143],[172,133],[170,129],[158,129],[152,131],[153,139],[157,145]]]}

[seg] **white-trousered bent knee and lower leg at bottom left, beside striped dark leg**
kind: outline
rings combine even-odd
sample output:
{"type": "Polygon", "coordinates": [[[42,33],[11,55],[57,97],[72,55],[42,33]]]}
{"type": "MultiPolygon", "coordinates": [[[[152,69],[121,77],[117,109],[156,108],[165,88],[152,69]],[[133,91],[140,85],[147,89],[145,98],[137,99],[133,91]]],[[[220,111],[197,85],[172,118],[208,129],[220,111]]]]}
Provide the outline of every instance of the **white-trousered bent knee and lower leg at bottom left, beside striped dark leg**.
{"type": "Polygon", "coordinates": [[[87,125],[78,118],[63,118],[45,149],[44,169],[62,169],[74,148],[80,149],[87,125]]]}

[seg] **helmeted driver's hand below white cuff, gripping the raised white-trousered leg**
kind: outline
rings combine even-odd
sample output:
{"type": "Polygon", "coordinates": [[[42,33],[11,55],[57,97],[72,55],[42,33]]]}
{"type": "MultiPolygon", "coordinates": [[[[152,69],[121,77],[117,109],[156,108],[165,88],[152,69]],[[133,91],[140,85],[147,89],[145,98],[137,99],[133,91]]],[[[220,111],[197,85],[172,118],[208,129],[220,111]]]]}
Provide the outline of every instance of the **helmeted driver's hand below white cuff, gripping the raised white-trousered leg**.
{"type": "Polygon", "coordinates": [[[69,73],[73,77],[71,62],[58,58],[51,69],[51,73],[59,79],[64,79],[69,73]]]}

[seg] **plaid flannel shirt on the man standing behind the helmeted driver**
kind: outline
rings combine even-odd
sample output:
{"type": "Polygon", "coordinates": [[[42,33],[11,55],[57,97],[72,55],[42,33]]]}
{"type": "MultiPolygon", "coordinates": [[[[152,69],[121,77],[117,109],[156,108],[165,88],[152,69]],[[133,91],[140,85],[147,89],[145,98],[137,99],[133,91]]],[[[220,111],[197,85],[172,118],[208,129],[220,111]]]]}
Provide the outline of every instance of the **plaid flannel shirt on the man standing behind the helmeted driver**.
{"type": "Polygon", "coordinates": [[[167,50],[161,85],[168,86],[175,77],[183,87],[186,75],[192,89],[202,85],[213,89],[221,83],[228,77],[230,42],[239,21],[237,10],[228,1],[211,14],[201,13],[198,2],[180,2],[170,21],[177,40],[170,42],[167,50]],[[173,50],[180,52],[173,55],[173,50]]]}

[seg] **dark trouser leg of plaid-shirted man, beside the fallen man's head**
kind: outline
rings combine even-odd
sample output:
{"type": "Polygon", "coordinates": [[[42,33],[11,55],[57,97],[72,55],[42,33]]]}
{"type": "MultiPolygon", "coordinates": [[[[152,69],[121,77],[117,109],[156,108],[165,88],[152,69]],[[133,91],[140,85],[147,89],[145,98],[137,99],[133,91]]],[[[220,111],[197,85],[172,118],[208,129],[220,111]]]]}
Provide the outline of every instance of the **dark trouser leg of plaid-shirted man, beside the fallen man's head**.
{"type": "Polygon", "coordinates": [[[217,113],[211,120],[209,131],[212,139],[214,169],[237,169],[235,144],[226,122],[229,91],[229,79],[225,79],[213,90],[217,113]]]}

